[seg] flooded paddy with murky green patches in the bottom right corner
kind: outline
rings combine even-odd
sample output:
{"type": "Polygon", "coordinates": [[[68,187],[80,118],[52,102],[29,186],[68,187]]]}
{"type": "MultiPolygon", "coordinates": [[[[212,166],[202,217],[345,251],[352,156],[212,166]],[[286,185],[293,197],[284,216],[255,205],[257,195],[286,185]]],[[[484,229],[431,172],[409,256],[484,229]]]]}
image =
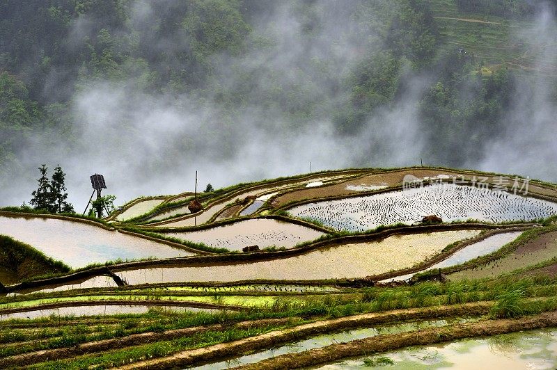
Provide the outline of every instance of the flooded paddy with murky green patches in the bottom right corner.
{"type": "Polygon", "coordinates": [[[557,329],[528,330],[344,360],[312,369],[556,369],[557,329]]]}

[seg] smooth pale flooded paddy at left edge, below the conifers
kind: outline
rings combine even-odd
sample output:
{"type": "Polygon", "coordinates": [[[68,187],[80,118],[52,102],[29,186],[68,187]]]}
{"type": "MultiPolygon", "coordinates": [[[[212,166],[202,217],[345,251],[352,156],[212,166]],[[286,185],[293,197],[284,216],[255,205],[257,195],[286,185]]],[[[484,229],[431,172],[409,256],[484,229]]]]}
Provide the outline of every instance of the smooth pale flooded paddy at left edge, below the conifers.
{"type": "Polygon", "coordinates": [[[27,243],[72,268],[114,259],[194,255],[163,243],[54,218],[0,216],[0,234],[27,243]]]}

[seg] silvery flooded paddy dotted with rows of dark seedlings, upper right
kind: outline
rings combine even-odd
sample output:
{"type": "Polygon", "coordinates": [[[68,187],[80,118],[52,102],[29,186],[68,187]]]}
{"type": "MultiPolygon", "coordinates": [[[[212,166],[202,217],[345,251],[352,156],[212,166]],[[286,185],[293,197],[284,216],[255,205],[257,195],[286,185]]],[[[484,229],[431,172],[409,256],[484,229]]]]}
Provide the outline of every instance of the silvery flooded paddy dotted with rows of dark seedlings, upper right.
{"type": "Polygon", "coordinates": [[[556,215],[557,203],[486,188],[442,184],[303,204],[288,211],[292,216],[312,218],[336,230],[364,231],[379,225],[419,223],[431,214],[444,222],[535,220],[556,215]]]}

